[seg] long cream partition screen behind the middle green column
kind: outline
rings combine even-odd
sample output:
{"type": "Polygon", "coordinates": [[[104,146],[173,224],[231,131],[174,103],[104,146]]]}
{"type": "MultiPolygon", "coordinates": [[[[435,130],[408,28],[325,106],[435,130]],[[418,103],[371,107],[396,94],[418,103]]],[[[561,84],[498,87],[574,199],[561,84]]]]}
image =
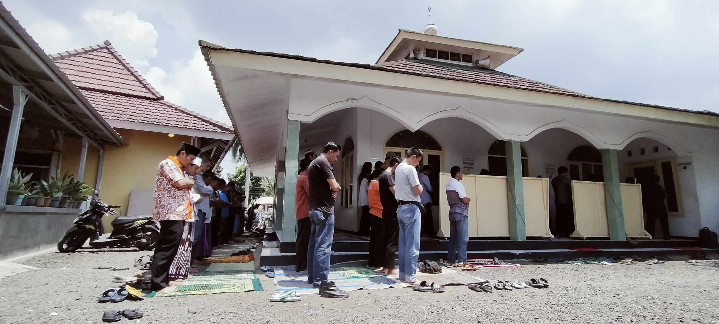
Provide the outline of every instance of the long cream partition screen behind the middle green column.
{"type": "MultiPolygon", "coordinates": [[[[449,237],[449,205],[446,185],[449,173],[439,174],[439,231],[449,237]]],[[[523,178],[527,236],[551,237],[549,232],[549,180],[523,178]]],[[[508,237],[507,177],[464,175],[464,190],[472,202],[468,210],[470,237],[508,237]]]]}

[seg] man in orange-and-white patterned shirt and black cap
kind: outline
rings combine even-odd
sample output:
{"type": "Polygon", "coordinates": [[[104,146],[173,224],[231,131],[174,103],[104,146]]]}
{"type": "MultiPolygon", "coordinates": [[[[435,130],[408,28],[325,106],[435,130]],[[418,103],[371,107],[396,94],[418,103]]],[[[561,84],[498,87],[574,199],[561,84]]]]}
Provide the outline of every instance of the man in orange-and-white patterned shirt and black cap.
{"type": "Polygon", "coordinates": [[[174,157],[157,166],[152,218],[160,223],[160,235],[152,257],[152,290],[162,294],[172,292],[172,287],[168,287],[168,272],[178,252],[185,221],[192,217],[190,188],[195,182],[186,179],[183,169],[190,167],[199,154],[200,149],[183,143],[174,157]]]}

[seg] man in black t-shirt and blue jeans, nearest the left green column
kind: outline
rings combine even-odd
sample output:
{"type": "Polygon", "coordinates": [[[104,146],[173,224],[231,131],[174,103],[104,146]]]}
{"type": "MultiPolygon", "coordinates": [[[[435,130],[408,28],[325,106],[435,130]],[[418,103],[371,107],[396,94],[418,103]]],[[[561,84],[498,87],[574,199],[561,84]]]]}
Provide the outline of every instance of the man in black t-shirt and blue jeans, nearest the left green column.
{"type": "Polygon", "coordinates": [[[327,281],[329,258],[334,236],[334,198],[339,183],[334,179],[332,164],[339,157],[339,145],[328,142],[319,157],[307,167],[312,229],[307,248],[307,282],[319,288],[322,297],[349,297],[334,282],[327,281]]]}

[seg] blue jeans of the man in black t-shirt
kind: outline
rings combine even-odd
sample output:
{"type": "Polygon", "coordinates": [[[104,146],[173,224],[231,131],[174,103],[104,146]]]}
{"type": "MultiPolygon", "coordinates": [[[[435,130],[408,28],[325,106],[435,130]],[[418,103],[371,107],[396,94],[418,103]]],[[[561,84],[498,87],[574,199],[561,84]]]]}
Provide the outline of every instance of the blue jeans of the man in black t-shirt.
{"type": "Polygon", "coordinates": [[[329,277],[329,258],[332,256],[334,215],[319,209],[310,210],[310,242],[307,246],[307,283],[319,288],[329,277]]]}

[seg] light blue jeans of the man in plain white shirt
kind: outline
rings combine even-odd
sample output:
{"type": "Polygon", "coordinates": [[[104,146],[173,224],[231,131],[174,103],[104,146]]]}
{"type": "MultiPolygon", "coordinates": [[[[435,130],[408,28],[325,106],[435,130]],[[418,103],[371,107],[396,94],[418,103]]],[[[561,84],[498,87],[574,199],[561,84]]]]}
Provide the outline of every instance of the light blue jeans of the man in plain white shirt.
{"type": "Polygon", "coordinates": [[[417,260],[419,259],[419,234],[422,216],[418,205],[399,205],[397,221],[400,226],[399,265],[400,280],[415,282],[417,280],[417,260]]]}

